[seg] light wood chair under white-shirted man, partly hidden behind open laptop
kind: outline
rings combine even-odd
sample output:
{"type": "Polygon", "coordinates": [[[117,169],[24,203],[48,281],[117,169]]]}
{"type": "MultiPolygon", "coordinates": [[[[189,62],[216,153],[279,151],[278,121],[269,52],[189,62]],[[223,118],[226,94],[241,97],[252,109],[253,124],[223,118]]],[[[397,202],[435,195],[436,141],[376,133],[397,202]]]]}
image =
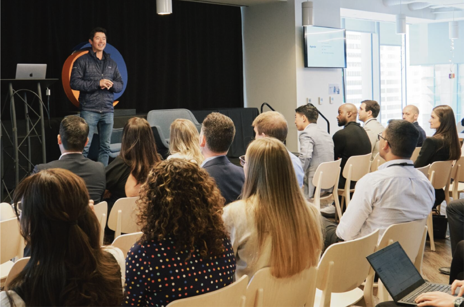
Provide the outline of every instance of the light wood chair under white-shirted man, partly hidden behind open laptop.
{"type": "MultiPolygon", "coordinates": [[[[380,242],[375,247],[375,251],[383,249],[390,244],[399,242],[406,251],[407,256],[414,263],[419,272],[422,272],[422,261],[424,259],[425,239],[427,237],[427,218],[420,220],[390,225],[383,235],[380,242]]],[[[375,271],[372,267],[369,269],[369,275],[364,286],[364,299],[367,307],[373,307],[373,286],[375,271]]],[[[388,292],[381,281],[378,282],[377,296],[380,302],[388,300],[388,292]]]]}

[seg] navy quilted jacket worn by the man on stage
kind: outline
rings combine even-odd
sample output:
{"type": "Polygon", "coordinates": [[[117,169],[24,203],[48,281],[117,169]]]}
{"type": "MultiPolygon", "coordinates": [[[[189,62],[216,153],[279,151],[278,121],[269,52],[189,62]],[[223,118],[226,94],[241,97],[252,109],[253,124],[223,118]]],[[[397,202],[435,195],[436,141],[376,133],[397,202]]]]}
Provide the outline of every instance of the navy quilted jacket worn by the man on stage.
{"type": "Polygon", "coordinates": [[[82,111],[99,113],[114,112],[114,94],[122,91],[122,77],[116,62],[110,54],[103,51],[104,58],[100,61],[97,53],[89,48],[89,53],[77,58],[71,71],[71,89],[78,90],[79,108],[82,111]],[[113,82],[110,90],[100,89],[100,80],[113,82]]]}

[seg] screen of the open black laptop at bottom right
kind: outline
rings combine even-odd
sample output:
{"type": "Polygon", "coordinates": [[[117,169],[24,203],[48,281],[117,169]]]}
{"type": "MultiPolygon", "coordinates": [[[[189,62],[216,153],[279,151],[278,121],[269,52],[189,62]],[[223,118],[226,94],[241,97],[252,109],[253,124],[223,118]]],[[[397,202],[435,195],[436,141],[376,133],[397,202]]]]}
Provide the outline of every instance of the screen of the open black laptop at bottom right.
{"type": "Polygon", "coordinates": [[[398,242],[367,256],[367,261],[395,302],[425,282],[398,242]]]}

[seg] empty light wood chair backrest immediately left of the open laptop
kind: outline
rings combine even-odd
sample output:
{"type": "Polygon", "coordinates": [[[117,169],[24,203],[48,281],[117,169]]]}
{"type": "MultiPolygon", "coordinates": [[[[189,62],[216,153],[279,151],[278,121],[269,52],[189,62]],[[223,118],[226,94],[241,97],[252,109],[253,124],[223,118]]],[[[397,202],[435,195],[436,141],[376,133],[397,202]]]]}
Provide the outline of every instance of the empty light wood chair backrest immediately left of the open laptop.
{"type": "Polygon", "coordinates": [[[319,261],[317,288],[342,293],[361,285],[370,268],[366,257],[374,252],[378,238],[379,230],[375,230],[367,236],[330,245],[319,261]]]}

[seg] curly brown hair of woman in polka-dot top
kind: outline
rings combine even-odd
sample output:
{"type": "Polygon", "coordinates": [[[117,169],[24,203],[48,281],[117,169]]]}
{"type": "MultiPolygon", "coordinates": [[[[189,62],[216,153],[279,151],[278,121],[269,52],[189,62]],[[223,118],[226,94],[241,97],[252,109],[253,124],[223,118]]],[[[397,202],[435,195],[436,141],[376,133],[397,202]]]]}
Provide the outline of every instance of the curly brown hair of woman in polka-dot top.
{"type": "Polygon", "coordinates": [[[222,220],[225,198],[210,175],[183,159],[161,161],[140,189],[138,224],[141,241],[173,236],[176,248],[195,249],[204,258],[224,252],[222,220]]]}

